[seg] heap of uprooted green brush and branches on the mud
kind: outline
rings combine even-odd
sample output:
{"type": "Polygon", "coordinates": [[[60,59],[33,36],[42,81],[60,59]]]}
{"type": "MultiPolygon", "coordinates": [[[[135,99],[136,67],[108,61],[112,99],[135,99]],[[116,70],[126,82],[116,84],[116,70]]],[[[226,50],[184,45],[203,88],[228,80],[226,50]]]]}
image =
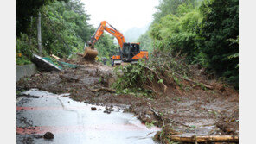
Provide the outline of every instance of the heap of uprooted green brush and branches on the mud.
{"type": "Polygon", "coordinates": [[[183,88],[180,77],[189,76],[189,67],[180,57],[172,57],[170,53],[155,52],[147,61],[139,61],[136,65],[119,66],[115,69],[118,75],[113,88],[118,93],[143,93],[143,97],[155,98],[163,96],[166,85],[178,85],[183,88]],[[160,87],[159,87],[160,86],[160,87]]]}

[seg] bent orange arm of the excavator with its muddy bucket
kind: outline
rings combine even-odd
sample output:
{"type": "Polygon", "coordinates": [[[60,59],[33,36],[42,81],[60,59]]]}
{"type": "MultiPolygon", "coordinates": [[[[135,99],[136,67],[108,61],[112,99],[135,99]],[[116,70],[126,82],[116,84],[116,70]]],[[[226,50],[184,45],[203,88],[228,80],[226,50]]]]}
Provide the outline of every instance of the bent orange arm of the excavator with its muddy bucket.
{"type": "Polygon", "coordinates": [[[93,36],[91,37],[91,40],[87,42],[88,47],[85,47],[84,53],[85,59],[94,59],[98,55],[97,50],[94,49],[94,44],[99,40],[100,36],[104,33],[104,30],[106,30],[109,34],[115,36],[118,40],[118,44],[121,50],[123,49],[125,43],[124,35],[121,34],[116,28],[113,28],[112,25],[110,25],[106,21],[102,21],[100,22],[99,27],[96,29],[93,36]],[[108,24],[109,26],[107,26],[106,24],[108,24]]]}

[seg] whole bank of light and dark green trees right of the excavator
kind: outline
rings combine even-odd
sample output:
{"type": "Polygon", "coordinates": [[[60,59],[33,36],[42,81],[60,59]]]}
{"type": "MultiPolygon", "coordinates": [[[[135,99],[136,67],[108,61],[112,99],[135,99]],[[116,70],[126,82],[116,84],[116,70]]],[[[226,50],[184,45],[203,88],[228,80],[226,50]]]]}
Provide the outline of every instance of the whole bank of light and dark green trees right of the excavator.
{"type": "Polygon", "coordinates": [[[179,53],[238,84],[238,6],[238,0],[161,0],[138,41],[149,50],[179,53]]]}

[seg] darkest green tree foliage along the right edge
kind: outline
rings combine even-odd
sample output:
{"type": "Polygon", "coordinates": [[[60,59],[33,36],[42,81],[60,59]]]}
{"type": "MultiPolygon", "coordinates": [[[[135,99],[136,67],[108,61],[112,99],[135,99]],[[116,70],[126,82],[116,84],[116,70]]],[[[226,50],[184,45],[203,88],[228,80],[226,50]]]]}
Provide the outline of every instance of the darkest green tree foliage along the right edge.
{"type": "Polygon", "coordinates": [[[238,86],[239,1],[205,0],[200,36],[208,68],[238,86]]]}

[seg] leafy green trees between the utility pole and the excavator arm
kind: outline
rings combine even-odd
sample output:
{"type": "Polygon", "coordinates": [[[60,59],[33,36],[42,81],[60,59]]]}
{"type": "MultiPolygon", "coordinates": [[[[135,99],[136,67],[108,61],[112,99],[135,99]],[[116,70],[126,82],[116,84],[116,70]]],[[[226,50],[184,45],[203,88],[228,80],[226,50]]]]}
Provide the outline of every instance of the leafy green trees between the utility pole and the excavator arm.
{"type": "Polygon", "coordinates": [[[83,53],[93,29],[88,25],[83,4],[74,0],[55,2],[42,9],[42,47],[47,53],[69,57],[83,53]]]}

